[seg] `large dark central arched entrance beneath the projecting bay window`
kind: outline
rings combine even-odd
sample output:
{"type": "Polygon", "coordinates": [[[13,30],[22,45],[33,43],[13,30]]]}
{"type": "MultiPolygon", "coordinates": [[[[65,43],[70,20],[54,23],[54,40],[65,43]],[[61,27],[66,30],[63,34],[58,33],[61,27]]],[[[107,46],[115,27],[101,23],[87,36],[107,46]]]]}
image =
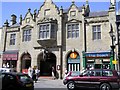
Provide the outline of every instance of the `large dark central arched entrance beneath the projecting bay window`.
{"type": "Polygon", "coordinates": [[[56,69],[56,56],[55,54],[48,52],[46,57],[43,57],[43,53],[38,56],[38,68],[40,69],[41,76],[52,76],[52,66],[56,69]]]}

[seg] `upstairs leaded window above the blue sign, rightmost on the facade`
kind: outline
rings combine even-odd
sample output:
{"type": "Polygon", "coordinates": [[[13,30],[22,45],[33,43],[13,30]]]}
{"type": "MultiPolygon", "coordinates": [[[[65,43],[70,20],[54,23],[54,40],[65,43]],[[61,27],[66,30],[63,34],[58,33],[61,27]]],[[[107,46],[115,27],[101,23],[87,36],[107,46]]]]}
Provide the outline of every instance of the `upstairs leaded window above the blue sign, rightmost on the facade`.
{"type": "Polygon", "coordinates": [[[101,39],[101,26],[100,25],[93,26],[92,31],[93,31],[93,40],[101,39]]]}

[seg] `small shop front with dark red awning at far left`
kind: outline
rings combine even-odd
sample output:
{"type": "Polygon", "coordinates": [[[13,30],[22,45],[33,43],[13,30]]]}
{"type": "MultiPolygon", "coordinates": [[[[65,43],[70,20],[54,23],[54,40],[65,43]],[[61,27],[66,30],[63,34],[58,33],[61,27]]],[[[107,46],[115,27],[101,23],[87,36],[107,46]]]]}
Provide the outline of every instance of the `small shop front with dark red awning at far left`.
{"type": "Polygon", "coordinates": [[[18,51],[5,51],[2,58],[3,68],[15,68],[17,67],[18,51]]]}

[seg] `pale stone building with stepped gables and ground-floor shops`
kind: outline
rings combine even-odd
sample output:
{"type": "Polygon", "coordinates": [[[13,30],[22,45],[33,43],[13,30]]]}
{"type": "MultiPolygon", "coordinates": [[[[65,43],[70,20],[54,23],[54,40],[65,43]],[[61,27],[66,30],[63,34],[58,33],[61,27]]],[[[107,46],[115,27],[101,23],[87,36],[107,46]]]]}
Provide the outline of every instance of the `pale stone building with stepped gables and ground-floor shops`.
{"type": "Polygon", "coordinates": [[[19,23],[16,18],[11,15],[11,24],[6,20],[2,27],[1,67],[25,71],[37,66],[41,76],[51,76],[54,66],[58,78],[66,69],[114,68],[109,31],[116,35],[115,2],[107,11],[90,12],[88,1],[63,9],[45,0],[38,13],[28,9],[19,23]]]}

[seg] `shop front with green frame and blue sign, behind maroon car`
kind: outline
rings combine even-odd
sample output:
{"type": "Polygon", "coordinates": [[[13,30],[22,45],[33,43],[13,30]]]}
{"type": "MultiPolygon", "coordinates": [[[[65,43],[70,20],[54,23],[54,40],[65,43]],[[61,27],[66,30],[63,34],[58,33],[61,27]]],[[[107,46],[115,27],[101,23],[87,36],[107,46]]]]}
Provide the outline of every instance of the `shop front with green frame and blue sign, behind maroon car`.
{"type": "Polygon", "coordinates": [[[89,69],[114,69],[111,52],[83,52],[83,67],[89,69]]]}

